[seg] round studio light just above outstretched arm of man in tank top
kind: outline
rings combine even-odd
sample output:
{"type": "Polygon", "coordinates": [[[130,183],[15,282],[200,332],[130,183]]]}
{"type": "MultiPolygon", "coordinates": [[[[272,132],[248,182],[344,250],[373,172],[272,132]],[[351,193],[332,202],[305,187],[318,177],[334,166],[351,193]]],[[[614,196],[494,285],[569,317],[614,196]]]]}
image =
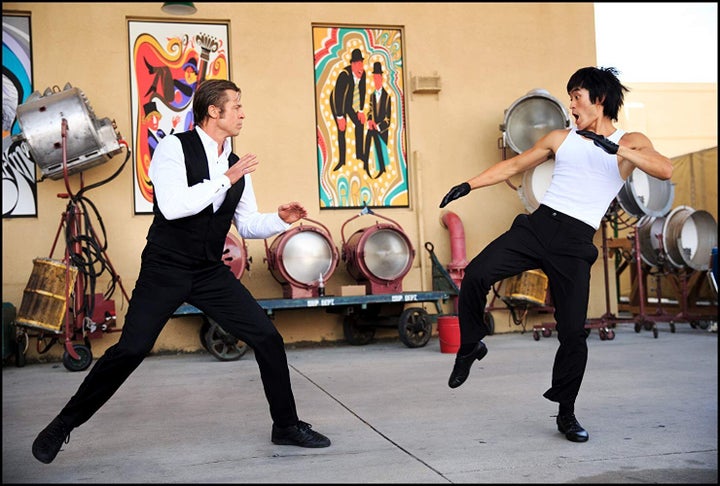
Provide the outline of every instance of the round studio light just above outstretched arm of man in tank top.
{"type": "Polygon", "coordinates": [[[505,110],[500,130],[503,146],[520,154],[552,130],[569,126],[570,115],[563,104],[547,90],[533,89],[505,110]]]}

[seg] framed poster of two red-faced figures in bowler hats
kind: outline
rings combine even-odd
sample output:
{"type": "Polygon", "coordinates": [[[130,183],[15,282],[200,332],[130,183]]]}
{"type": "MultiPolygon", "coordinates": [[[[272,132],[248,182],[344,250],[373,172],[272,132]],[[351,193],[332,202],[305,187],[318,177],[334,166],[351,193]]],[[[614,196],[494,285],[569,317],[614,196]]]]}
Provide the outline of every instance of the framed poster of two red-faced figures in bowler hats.
{"type": "Polygon", "coordinates": [[[402,30],[312,31],[320,209],[408,207],[402,30]]]}

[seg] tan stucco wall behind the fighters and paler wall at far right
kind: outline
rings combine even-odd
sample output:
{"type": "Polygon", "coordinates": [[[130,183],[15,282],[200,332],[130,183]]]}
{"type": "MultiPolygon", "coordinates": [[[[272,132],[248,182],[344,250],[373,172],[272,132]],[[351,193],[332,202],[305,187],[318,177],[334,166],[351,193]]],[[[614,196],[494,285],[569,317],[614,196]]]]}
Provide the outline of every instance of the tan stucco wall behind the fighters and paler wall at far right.
{"type": "MultiPolygon", "coordinates": [[[[114,119],[126,138],[131,135],[128,20],[228,21],[231,78],[243,90],[247,114],[235,149],[255,152],[261,160],[253,174],[259,206],[270,212],[288,200],[303,202],[308,216],[330,229],[338,248],[342,224],[357,212],[320,211],[317,202],[311,27],[380,25],[402,29],[410,207],[380,213],[397,221],[415,247],[404,290],[431,290],[426,241],[434,244],[443,264],[450,262],[448,231],[440,222],[438,203],[449,187],[501,159],[498,139],[504,110],[534,88],[546,89],[566,102],[568,77],[579,67],[595,64],[591,3],[198,3],[198,12],[192,17],[171,17],[160,11],[160,5],[5,2],[3,11],[31,14],[35,88],[42,92],[68,82],[81,88],[95,113],[114,119]],[[442,90],[411,93],[412,76],[439,76],[442,90]]],[[[669,156],[717,145],[717,85],[664,89],[661,93],[653,86],[634,90],[628,103],[635,111],[621,120],[622,124],[638,126],[651,138],[657,137],[657,147],[667,150],[669,156]],[[688,109],[690,99],[697,110],[688,109]],[[635,102],[642,106],[638,108],[635,102]]],[[[123,152],[88,171],[85,184],[107,178],[124,156],[123,152]]],[[[77,178],[74,180],[77,183],[77,178]]],[[[137,277],[151,222],[150,215],[134,214],[132,184],[131,169],[126,168],[110,184],[88,193],[103,217],[107,254],[128,293],[137,277]]],[[[3,301],[16,307],[32,271],[32,260],[49,255],[66,204],[57,197],[60,192],[65,192],[63,181],[44,181],[38,185],[37,218],[3,219],[3,301]]],[[[515,191],[499,184],[448,209],[463,221],[471,258],[504,231],[524,206],[515,191]]],[[[368,220],[368,224],[374,222],[368,220]]],[[[264,261],[263,241],[247,243],[252,264],[243,282],[258,298],[281,297],[281,287],[264,261]]],[[[599,232],[596,243],[601,243],[599,232]]],[[[340,263],[327,282],[327,293],[354,283],[340,263]]],[[[102,285],[101,281],[100,288],[102,285]]],[[[611,292],[613,287],[611,284],[611,292]]],[[[119,290],[113,298],[122,323],[127,302],[119,290]]],[[[499,308],[493,313],[496,332],[518,330],[502,304],[499,308]]],[[[452,311],[449,304],[446,311],[452,311]]],[[[604,312],[599,259],[593,272],[590,316],[604,312]]],[[[538,319],[547,320],[547,316],[531,316],[528,325],[538,319]]],[[[279,311],[274,320],[287,343],[343,339],[342,318],[322,310],[279,311]]],[[[198,349],[198,329],[198,318],[173,319],[154,351],[198,349]]],[[[377,335],[397,333],[388,329],[377,335]]],[[[95,340],[93,353],[100,355],[117,336],[107,334],[95,340]]],[[[33,347],[34,342],[28,359],[36,354],[33,347]]],[[[47,356],[60,353],[57,346],[47,356]]]]}

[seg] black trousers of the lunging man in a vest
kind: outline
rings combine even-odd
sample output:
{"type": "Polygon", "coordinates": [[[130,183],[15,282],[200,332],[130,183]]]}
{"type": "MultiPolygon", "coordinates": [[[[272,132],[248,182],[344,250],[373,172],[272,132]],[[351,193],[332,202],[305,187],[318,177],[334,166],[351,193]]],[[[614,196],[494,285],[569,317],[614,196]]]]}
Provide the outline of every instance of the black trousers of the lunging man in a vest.
{"type": "Polygon", "coordinates": [[[253,349],[273,423],[297,423],[284,342],[260,304],[221,261],[198,261],[148,243],[120,339],[97,360],[60,412],[68,425],[85,423],[110,399],[183,302],[253,349]]]}

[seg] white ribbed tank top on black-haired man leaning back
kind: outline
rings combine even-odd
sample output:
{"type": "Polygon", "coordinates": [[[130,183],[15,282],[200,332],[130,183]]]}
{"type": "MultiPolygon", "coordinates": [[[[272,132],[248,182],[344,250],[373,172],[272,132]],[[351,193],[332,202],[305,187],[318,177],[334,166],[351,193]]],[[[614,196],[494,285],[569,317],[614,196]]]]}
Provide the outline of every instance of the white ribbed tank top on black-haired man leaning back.
{"type": "MultiPolygon", "coordinates": [[[[542,197],[541,204],[579,219],[595,229],[607,212],[612,200],[623,186],[617,155],[611,155],[592,140],[569,128],[555,154],[550,187],[542,197]]],[[[616,129],[608,137],[618,143],[625,131],[616,129]]]]}

